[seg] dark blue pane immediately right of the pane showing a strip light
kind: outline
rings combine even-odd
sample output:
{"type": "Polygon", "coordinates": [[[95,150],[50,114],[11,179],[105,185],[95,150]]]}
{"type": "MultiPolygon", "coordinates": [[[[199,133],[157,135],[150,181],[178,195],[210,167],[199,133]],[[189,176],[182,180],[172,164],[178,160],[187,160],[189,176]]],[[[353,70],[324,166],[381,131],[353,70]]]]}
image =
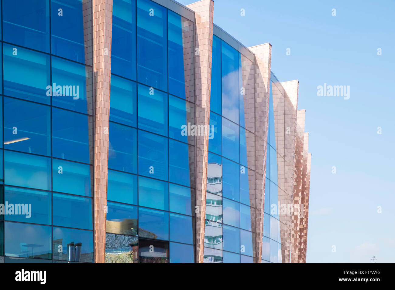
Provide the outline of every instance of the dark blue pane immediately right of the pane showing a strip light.
{"type": "Polygon", "coordinates": [[[89,123],[92,117],[52,108],[52,156],[83,163],[89,159],[89,123]]]}

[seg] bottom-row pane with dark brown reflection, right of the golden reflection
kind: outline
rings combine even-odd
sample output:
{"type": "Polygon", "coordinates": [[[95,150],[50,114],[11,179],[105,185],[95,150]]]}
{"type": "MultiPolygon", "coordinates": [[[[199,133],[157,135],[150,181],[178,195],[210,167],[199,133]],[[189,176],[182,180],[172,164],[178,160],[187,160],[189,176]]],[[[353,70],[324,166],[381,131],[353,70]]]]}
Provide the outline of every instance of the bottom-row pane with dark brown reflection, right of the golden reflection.
{"type": "Polygon", "coordinates": [[[169,242],[139,238],[139,263],[169,263],[169,242]]]}

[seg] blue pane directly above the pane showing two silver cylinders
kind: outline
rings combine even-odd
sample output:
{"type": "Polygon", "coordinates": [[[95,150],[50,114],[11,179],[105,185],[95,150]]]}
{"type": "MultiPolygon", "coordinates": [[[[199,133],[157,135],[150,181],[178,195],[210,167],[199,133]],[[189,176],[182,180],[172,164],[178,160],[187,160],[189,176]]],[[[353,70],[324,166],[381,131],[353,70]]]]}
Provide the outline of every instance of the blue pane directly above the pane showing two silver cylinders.
{"type": "Polygon", "coordinates": [[[92,199],[54,193],[53,225],[92,230],[92,199]]]}

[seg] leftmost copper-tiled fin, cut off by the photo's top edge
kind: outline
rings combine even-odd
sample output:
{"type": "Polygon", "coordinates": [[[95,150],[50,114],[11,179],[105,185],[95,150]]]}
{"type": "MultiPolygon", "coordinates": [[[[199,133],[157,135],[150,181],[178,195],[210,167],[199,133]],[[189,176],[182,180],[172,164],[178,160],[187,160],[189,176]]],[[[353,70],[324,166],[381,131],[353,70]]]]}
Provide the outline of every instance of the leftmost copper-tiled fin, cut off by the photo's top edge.
{"type": "Polygon", "coordinates": [[[95,76],[94,251],[96,263],[104,263],[105,252],[112,10],[112,0],[93,1],[93,70],[95,76]]]}

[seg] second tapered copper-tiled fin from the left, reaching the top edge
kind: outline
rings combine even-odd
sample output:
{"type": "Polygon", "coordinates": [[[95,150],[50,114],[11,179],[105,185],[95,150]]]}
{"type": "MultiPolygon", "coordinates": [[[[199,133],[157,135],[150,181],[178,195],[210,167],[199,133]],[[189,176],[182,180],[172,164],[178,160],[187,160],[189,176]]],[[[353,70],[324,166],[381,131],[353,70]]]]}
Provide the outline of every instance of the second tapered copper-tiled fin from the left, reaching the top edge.
{"type": "MultiPolygon", "coordinates": [[[[195,11],[195,84],[196,84],[196,124],[209,125],[211,56],[213,47],[213,0],[202,0],[188,5],[195,11]]],[[[196,136],[196,262],[203,263],[204,226],[206,215],[208,134],[196,136]]]]}

